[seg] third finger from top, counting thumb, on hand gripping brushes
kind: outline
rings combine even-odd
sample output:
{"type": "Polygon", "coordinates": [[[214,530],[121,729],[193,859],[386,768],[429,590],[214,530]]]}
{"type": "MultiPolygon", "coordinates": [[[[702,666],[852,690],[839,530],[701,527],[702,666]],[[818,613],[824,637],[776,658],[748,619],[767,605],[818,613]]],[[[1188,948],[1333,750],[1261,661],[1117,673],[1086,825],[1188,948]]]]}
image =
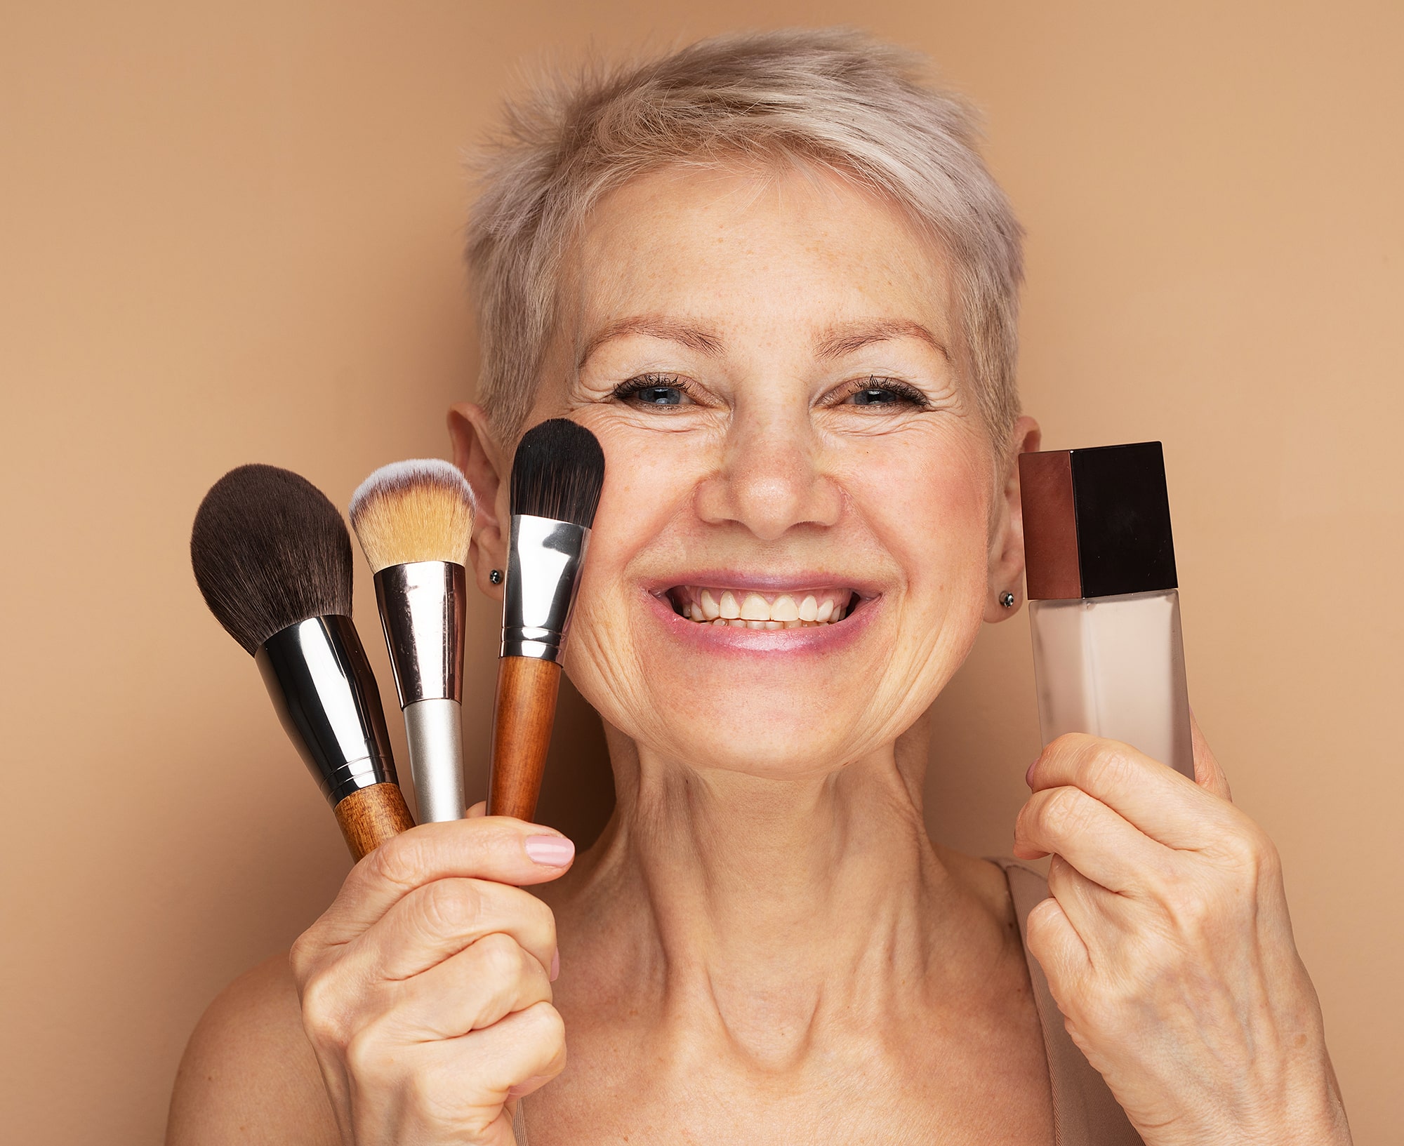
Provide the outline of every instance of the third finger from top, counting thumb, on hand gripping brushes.
{"type": "Polygon", "coordinates": [[[392,1042],[459,1038],[552,1000],[541,961],[503,934],[386,986],[380,1014],[366,1028],[379,1028],[392,1042]]]}

